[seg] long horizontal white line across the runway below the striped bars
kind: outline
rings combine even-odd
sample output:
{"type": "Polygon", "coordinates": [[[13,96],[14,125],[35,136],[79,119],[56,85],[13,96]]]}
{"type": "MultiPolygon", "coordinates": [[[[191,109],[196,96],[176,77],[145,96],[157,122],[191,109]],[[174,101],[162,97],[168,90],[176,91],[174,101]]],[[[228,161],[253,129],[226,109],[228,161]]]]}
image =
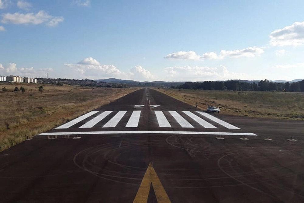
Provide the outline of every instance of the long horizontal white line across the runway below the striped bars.
{"type": "Polygon", "coordinates": [[[185,135],[239,135],[257,136],[254,133],[241,132],[202,132],[202,131],[86,131],[86,132],[44,132],[45,135],[103,135],[103,134],[185,134],[185,135]]]}

